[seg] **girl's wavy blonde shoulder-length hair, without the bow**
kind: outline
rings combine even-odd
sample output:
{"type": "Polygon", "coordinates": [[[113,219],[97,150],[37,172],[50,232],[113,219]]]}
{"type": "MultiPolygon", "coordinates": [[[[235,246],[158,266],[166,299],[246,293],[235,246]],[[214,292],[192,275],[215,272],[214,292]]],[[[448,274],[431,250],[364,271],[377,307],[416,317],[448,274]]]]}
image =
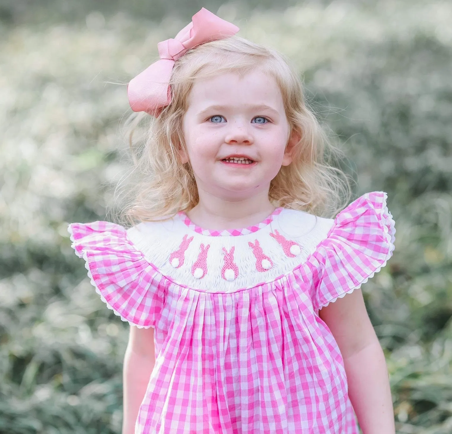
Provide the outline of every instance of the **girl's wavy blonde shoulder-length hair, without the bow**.
{"type": "Polygon", "coordinates": [[[268,47],[232,36],[204,43],[179,58],[171,75],[171,103],[144,127],[144,137],[133,133],[147,114],[132,114],[127,123],[134,169],[126,184],[121,215],[136,222],[165,220],[188,211],[199,200],[190,162],[181,164],[184,149],[183,117],[195,80],[223,72],[246,74],[259,68],[276,80],[281,90],[290,130],[301,139],[294,147],[292,163],[282,166],[271,181],[268,198],[282,206],[330,217],[350,196],[348,179],[330,165],[338,150],[332,146],[314,113],[307,108],[301,81],[281,54],[268,47]],[[137,146],[138,145],[138,146],[137,146]]]}

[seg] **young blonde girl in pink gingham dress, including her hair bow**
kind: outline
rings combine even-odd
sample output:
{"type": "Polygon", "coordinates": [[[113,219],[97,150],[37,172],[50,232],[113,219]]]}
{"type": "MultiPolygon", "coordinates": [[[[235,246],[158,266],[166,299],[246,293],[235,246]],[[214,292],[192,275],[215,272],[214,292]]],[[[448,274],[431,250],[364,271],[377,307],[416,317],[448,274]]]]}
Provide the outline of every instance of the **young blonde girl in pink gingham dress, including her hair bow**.
{"type": "Polygon", "coordinates": [[[123,434],[395,432],[361,284],[394,250],[386,193],[334,219],[325,139],[280,55],[201,9],[128,86],[151,114],[125,229],[72,223],[128,321],[123,434]],[[348,294],[346,297],[344,297],[348,294]]]}

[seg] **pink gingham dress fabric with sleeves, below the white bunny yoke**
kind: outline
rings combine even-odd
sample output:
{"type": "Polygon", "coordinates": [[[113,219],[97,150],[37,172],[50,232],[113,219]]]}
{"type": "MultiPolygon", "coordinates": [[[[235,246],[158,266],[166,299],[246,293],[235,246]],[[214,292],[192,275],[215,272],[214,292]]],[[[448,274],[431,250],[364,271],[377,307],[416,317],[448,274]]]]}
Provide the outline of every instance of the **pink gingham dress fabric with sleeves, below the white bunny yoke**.
{"type": "Polygon", "coordinates": [[[136,434],[358,434],[339,348],[318,309],[386,264],[386,193],[334,220],[303,264],[270,283],[202,292],[165,277],[108,222],[69,227],[91,282],[124,321],[155,328],[136,434]]]}

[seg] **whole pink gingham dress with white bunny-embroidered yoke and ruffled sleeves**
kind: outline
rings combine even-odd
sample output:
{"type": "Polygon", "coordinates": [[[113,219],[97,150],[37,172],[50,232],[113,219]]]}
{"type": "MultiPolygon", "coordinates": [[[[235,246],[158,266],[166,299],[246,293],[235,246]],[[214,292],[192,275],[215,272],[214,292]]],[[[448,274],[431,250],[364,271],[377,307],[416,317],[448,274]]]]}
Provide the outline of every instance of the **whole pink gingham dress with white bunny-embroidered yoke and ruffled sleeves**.
{"type": "Polygon", "coordinates": [[[318,311],[391,257],[386,193],[364,194],[334,219],[277,208],[256,226],[212,231],[179,212],[69,231],[108,308],[155,329],[136,434],[358,433],[318,311]]]}

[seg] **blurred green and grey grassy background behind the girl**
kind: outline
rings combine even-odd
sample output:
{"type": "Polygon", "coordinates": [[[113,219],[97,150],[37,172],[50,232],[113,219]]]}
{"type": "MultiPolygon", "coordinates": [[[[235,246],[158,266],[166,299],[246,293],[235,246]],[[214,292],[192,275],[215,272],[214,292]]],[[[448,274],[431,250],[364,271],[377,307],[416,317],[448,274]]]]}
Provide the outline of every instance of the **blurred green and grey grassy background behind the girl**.
{"type": "Polygon", "coordinates": [[[398,433],[452,432],[452,2],[0,1],[0,433],[121,432],[128,325],[71,249],[127,166],[125,84],[202,6],[289,56],[396,250],[363,286],[398,433]]]}

